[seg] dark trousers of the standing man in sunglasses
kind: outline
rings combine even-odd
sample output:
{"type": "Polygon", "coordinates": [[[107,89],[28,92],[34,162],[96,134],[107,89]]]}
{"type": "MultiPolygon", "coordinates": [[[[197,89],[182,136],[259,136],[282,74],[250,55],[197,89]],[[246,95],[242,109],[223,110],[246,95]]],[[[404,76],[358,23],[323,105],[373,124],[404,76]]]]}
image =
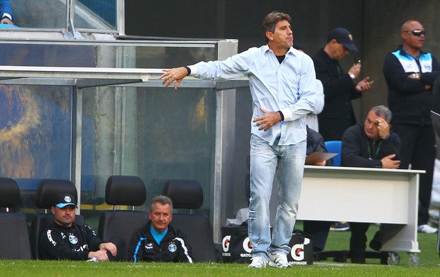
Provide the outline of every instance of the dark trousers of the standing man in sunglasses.
{"type": "Polygon", "coordinates": [[[420,174],[419,181],[419,217],[418,225],[429,221],[429,203],[431,202],[432,176],[436,158],[436,139],[432,126],[411,124],[393,124],[392,130],[400,136],[400,168],[426,170],[420,174]]]}

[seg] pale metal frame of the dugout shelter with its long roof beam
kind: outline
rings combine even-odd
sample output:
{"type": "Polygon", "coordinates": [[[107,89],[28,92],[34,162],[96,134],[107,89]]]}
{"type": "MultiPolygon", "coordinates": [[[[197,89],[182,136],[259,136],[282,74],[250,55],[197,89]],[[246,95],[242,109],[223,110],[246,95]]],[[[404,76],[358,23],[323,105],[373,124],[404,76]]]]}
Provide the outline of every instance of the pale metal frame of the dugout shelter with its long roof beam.
{"type": "MultiPolygon", "coordinates": [[[[192,64],[199,60],[224,60],[237,52],[238,41],[117,40],[118,36],[125,35],[123,0],[115,0],[116,29],[78,28],[82,24],[75,24],[75,16],[81,18],[79,13],[84,13],[83,7],[75,11],[75,8],[79,8],[78,2],[60,0],[58,6],[65,9],[65,26],[5,28],[0,31],[0,48],[4,53],[3,61],[0,61],[0,85],[72,87],[70,179],[77,190],[82,192],[84,93],[91,88],[99,90],[101,87],[113,87],[117,94],[115,97],[121,99],[121,89],[163,89],[162,81],[158,80],[161,68],[192,64]],[[199,56],[197,53],[201,52],[200,49],[211,54],[199,56]],[[194,52],[196,55],[193,56],[194,52]],[[71,53],[76,53],[76,56],[70,57],[71,53]],[[38,57],[40,59],[35,59],[38,55],[41,55],[38,57]],[[84,57],[92,59],[92,63],[76,63],[76,58],[84,57]]],[[[248,80],[215,81],[187,77],[180,84],[182,90],[207,89],[214,93],[214,148],[211,149],[211,180],[207,184],[210,190],[209,201],[205,201],[209,202],[209,216],[216,242],[221,241],[220,227],[226,221],[226,184],[233,183],[233,174],[227,165],[233,158],[236,87],[248,87],[248,80]]],[[[82,203],[81,193],[78,202],[82,203]]]]}

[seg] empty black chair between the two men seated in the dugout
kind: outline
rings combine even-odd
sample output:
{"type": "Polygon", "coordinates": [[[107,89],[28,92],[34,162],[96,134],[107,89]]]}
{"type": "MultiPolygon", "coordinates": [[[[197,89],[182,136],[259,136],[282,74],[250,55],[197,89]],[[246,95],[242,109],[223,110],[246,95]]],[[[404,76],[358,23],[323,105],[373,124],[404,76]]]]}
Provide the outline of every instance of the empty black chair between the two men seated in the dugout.
{"type": "MultiPolygon", "coordinates": [[[[148,212],[134,210],[134,206],[143,205],[146,195],[145,184],[141,178],[123,175],[110,176],[106,183],[106,203],[114,205],[114,210],[101,212],[98,237],[104,240],[120,237],[128,249],[133,232],[150,219],[148,212]],[[116,205],[132,206],[132,210],[116,210],[116,205]]],[[[130,260],[127,251],[123,260],[130,260]]]]}

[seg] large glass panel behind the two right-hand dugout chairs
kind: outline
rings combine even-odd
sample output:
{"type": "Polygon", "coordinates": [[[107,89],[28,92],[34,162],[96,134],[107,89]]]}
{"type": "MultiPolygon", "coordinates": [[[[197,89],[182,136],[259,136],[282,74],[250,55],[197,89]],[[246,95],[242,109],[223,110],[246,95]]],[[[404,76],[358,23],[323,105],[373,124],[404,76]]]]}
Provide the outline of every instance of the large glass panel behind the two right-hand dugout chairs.
{"type": "MultiPolygon", "coordinates": [[[[82,95],[84,203],[86,199],[104,202],[110,175],[142,178],[148,199],[136,208],[140,210],[148,210],[167,179],[194,179],[204,191],[204,204],[198,212],[209,216],[214,90],[106,87],[84,89],[82,95]]],[[[97,214],[99,211],[89,216],[97,214]]]]}

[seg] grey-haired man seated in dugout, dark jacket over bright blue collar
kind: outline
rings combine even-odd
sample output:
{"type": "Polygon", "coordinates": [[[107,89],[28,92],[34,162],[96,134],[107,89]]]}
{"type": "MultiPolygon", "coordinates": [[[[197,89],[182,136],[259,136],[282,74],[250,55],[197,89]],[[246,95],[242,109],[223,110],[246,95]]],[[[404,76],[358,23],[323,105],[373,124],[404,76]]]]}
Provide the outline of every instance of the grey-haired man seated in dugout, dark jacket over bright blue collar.
{"type": "Polygon", "coordinates": [[[171,220],[171,199],[163,195],[154,197],[150,206],[150,221],[131,236],[128,249],[131,261],[194,261],[187,237],[180,229],[170,225],[171,220]]]}

